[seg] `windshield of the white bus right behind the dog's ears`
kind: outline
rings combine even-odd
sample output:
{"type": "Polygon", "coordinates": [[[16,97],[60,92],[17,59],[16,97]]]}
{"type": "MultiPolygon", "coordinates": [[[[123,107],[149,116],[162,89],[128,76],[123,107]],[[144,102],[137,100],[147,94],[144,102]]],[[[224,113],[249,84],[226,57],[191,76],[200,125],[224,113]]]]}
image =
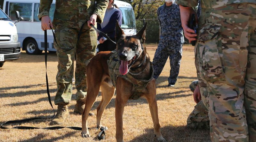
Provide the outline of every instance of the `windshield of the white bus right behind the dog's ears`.
{"type": "Polygon", "coordinates": [[[124,7],[119,7],[119,9],[122,11],[122,15],[123,15],[121,28],[123,29],[135,28],[135,17],[134,17],[133,10],[131,8],[124,8],[124,7]]]}

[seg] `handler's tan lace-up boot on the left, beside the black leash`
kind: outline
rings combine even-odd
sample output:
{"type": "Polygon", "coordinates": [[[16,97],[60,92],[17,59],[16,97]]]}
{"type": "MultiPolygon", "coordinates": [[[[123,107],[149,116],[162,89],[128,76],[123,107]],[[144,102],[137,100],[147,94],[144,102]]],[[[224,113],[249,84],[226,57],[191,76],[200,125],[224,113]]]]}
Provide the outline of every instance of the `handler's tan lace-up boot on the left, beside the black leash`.
{"type": "Polygon", "coordinates": [[[52,120],[51,124],[63,124],[65,119],[69,117],[68,106],[65,105],[58,105],[58,110],[55,118],[52,120]]]}

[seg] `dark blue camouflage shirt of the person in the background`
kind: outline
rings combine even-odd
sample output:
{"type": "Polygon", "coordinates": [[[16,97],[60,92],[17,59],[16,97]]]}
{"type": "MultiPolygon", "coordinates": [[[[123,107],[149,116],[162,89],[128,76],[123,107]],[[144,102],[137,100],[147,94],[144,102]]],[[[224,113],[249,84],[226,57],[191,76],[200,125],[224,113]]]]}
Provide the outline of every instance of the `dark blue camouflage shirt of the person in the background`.
{"type": "Polygon", "coordinates": [[[161,26],[160,40],[168,40],[177,44],[184,43],[179,6],[173,3],[167,7],[164,4],[157,9],[157,15],[161,26]]]}

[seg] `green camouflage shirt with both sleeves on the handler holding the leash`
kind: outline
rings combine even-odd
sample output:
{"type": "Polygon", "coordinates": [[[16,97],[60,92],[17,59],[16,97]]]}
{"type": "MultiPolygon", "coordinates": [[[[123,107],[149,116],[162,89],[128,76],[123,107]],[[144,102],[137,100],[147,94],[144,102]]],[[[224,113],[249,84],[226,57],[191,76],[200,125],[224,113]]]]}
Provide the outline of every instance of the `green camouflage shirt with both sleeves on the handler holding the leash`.
{"type": "MultiPolygon", "coordinates": [[[[49,16],[51,4],[52,0],[40,0],[40,20],[49,16]]],[[[102,23],[107,6],[108,0],[56,0],[53,24],[80,28],[94,13],[98,16],[96,22],[102,23]]],[[[84,28],[89,29],[88,26],[84,28]]]]}

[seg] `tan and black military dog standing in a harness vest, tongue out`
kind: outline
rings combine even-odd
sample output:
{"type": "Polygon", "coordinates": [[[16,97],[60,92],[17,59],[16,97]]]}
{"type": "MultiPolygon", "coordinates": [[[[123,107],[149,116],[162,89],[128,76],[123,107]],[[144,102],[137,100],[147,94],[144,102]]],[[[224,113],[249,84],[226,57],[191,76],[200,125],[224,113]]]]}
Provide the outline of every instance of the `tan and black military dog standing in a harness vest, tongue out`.
{"type": "Polygon", "coordinates": [[[116,141],[123,142],[123,112],[126,102],[129,99],[144,97],[149,103],[154,134],[158,141],[165,142],[158,120],[154,70],[143,46],[146,26],[147,23],[136,35],[128,36],[116,23],[116,51],[100,52],[88,64],[87,96],[83,99],[85,108],[82,114],[82,137],[90,137],[87,119],[99,90],[102,91],[102,100],[97,108],[97,128],[102,127],[102,113],[114,96],[116,88],[116,141]]]}

